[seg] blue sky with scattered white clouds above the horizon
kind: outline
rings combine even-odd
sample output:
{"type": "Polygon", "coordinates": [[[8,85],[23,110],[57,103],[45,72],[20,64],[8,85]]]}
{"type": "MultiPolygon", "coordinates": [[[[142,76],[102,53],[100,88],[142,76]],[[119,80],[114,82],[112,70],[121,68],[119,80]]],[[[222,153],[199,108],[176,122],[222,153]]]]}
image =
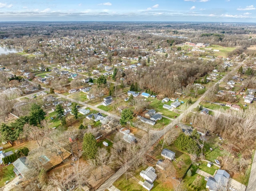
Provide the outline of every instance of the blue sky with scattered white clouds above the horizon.
{"type": "Polygon", "coordinates": [[[256,0],[0,0],[0,21],[256,22],[256,0]]]}

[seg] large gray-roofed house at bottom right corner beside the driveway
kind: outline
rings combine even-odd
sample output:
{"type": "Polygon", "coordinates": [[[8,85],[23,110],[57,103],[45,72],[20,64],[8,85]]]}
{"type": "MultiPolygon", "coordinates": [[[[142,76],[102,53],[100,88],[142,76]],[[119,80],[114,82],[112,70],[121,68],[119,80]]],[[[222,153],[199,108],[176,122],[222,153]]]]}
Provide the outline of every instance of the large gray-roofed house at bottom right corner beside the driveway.
{"type": "Polygon", "coordinates": [[[230,178],[229,173],[224,170],[218,170],[214,177],[209,177],[206,183],[206,188],[209,191],[217,191],[216,185],[225,184],[230,178]]]}

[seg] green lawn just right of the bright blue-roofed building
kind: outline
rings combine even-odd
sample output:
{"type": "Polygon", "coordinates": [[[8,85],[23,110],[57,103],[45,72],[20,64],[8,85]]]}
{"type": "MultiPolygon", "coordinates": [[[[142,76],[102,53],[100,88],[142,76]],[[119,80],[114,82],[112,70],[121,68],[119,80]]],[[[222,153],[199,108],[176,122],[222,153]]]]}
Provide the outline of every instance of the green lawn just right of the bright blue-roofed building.
{"type": "Polygon", "coordinates": [[[157,100],[157,99],[149,99],[149,100],[152,100],[152,102],[149,104],[152,108],[154,108],[154,110],[156,110],[156,112],[161,112],[162,115],[166,116],[166,117],[169,117],[169,118],[174,118],[174,116],[179,116],[180,114],[176,113],[176,112],[173,112],[173,111],[169,111],[165,108],[163,108],[163,105],[164,104],[169,104],[171,102],[168,102],[168,103],[162,103],[161,100],[157,100]]]}

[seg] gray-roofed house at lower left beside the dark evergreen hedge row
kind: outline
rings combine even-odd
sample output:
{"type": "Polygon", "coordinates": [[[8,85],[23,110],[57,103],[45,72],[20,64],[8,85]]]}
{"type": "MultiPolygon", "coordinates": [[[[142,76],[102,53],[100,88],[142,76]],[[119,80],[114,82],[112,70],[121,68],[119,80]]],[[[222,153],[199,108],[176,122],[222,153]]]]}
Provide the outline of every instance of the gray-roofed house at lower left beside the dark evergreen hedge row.
{"type": "Polygon", "coordinates": [[[26,172],[32,168],[32,163],[26,157],[18,158],[12,164],[14,165],[13,171],[17,176],[24,176],[26,172]]]}

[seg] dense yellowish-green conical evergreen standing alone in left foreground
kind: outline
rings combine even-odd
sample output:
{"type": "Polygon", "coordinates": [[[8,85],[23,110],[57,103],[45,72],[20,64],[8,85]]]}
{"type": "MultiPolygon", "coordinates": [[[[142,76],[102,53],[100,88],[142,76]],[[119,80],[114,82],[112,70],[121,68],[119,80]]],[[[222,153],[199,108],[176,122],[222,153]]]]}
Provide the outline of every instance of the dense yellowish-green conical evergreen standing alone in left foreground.
{"type": "Polygon", "coordinates": [[[84,134],[84,141],[82,145],[83,158],[94,159],[97,153],[97,142],[92,133],[84,134]]]}

